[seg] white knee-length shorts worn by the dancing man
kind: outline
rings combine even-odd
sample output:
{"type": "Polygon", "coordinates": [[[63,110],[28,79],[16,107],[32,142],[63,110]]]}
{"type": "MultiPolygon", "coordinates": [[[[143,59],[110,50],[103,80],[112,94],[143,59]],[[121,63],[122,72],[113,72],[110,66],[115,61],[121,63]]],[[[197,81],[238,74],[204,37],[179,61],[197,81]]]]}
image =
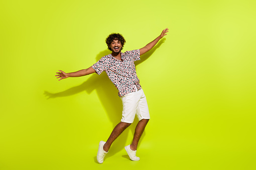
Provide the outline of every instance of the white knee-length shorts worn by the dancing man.
{"type": "Polygon", "coordinates": [[[123,102],[123,114],[121,122],[132,123],[137,115],[139,121],[141,119],[150,119],[146,96],[142,89],[136,92],[128,93],[121,97],[123,102]]]}

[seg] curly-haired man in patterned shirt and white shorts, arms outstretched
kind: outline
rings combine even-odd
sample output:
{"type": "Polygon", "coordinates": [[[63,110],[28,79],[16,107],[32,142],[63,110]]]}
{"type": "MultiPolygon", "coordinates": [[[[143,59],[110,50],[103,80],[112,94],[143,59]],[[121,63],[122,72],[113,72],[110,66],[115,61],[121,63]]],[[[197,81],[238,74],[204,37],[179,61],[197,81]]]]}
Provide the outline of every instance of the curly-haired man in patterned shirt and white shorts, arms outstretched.
{"type": "Polygon", "coordinates": [[[139,122],[135,128],[133,141],[130,145],[125,146],[131,160],[139,160],[136,156],[138,141],[150,119],[146,96],[139,84],[139,79],[136,74],[134,61],[140,60],[140,56],[150,49],[163,38],[168,32],[168,28],[164,29],[160,36],[139,50],[126,51],[121,53],[125,44],[125,39],[120,34],[111,34],[106,39],[108,49],[111,54],[102,57],[97,63],[88,69],[79,70],[72,73],[65,73],[61,70],[57,72],[59,80],[68,77],[80,77],[92,73],[101,74],[106,71],[108,77],[118,89],[119,97],[123,102],[123,111],[121,122],[116,125],[110,134],[108,140],[100,141],[97,160],[103,163],[105,155],[113,143],[113,141],[133,122],[135,114],[139,122]]]}

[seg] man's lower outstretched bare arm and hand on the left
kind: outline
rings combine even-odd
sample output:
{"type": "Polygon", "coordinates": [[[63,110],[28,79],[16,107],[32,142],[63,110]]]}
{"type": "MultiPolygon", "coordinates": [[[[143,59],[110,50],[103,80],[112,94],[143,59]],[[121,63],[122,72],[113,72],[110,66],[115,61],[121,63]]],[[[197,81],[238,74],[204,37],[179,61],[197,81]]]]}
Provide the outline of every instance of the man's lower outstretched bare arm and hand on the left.
{"type": "Polygon", "coordinates": [[[92,74],[92,73],[95,73],[96,71],[93,69],[93,67],[89,67],[88,69],[83,69],[83,70],[79,70],[79,71],[76,71],[76,72],[72,72],[72,73],[65,73],[64,71],[61,71],[59,70],[60,72],[57,72],[58,75],[55,75],[55,76],[58,76],[59,81],[62,80],[62,79],[66,79],[68,77],[80,77],[80,76],[86,76],[86,75],[89,75],[89,74],[92,74]]]}

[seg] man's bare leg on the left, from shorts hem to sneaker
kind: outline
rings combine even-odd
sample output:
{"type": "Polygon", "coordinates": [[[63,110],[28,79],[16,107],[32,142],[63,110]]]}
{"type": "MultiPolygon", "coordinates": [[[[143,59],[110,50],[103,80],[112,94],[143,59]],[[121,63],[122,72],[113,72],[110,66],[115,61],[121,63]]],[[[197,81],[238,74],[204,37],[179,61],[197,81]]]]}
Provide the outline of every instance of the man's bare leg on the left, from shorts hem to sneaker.
{"type": "MultiPolygon", "coordinates": [[[[107,152],[109,151],[109,148],[111,144],[114,142],[114,140],[128,127],[131,123],[125,123],[120,122],[116,125],[116,127],[113,129],[112,133],[110,134],[108,140],[103,146],[103,149],[107,152]]],[[[137,125],[138,126],[138,125],[137,125]]],[[[137,127],[136,127],[137,128],[137,127]]],[[[145,127],[144,127],[145,128],[145,127]]]]}

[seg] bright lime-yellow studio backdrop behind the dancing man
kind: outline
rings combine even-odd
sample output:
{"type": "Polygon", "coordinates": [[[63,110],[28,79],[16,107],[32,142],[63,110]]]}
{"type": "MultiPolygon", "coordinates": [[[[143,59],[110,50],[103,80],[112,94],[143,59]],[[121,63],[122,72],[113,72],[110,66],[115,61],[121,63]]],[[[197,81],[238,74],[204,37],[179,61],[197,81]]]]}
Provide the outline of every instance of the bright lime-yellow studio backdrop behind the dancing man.
{"type": "MultiPolygon", "coordinates": [[[[255,169],[255,1],[1,1],[0,169],[255,169]],[[129,160],[106,73],[57,81],[168,35],[136,63],[151,120],[129,160]]],[[[135,123],[137,119],[135,120],[135,123]]]]}

